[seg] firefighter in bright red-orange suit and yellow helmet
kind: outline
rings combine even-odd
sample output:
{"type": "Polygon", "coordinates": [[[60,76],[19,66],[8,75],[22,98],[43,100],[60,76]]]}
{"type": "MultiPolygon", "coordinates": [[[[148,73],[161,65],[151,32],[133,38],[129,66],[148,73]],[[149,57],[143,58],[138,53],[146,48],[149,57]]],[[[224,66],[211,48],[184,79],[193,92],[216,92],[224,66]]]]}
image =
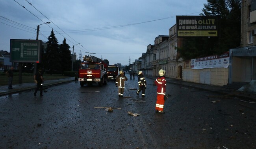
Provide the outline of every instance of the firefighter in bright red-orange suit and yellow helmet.
{"type": "Polygon", "coordinates": [[[160,69],[159,77],[155,80],[154,84],[157,86],[157,95],[156,95],[156,113],[164,113],[163,106],[165,104],[165,87],[166,87],[166,80],[165,80],[165,71],[160,69]]]}

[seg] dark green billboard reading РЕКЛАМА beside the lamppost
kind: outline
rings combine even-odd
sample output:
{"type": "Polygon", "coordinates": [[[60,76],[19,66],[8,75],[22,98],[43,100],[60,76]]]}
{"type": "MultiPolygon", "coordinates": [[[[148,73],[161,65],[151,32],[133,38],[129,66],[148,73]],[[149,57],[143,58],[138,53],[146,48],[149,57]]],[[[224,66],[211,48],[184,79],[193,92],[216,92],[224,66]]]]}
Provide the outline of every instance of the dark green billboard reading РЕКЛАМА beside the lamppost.
{"type": "Polygon", "coordinates": [[[10,62],[41,62],[41,40],[10,40],[10,62]]]}

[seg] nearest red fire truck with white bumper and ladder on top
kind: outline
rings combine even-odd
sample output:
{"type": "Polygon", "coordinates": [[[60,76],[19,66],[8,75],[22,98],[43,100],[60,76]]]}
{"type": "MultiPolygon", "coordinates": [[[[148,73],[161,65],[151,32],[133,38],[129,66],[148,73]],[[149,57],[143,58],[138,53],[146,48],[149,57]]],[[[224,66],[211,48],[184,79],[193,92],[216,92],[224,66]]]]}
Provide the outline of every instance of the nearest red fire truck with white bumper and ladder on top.
{"type": "Polygon", "coordinates": [[[78,72],[78,81],[80,82],[81,87],[85,84],[107,84],[108,75],[106,73],[106,67],[107,64],[100,58],[85,55],[78,72]]]}

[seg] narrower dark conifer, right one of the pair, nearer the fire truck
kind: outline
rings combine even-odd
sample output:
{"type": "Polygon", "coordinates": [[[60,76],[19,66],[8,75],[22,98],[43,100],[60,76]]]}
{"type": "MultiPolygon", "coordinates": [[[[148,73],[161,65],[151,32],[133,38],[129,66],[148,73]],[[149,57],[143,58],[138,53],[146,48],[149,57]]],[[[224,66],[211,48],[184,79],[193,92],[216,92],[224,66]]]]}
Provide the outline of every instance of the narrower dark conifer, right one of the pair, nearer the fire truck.
{"type": "Polygon", "coordinates": [[[71,52],[69,51],[69,45],[66,42],[66,38],[64,38],[62,44],[59,46],[60,56],[61,56],[61,72],[63,74],[64,71],[71,70],[71,52]]]}

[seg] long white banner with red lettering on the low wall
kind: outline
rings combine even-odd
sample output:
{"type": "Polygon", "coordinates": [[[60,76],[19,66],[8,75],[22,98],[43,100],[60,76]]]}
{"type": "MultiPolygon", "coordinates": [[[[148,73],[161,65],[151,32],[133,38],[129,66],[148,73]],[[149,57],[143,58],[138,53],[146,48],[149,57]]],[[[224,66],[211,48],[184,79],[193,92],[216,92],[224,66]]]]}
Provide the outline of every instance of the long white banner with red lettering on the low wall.
{"type": "Polygon", "coordinates": [[[229,52],[223,55],[212,55],[203,58],[196,58],[191,60],[191,69],[204,68],[228,68],[229,52]]]}

